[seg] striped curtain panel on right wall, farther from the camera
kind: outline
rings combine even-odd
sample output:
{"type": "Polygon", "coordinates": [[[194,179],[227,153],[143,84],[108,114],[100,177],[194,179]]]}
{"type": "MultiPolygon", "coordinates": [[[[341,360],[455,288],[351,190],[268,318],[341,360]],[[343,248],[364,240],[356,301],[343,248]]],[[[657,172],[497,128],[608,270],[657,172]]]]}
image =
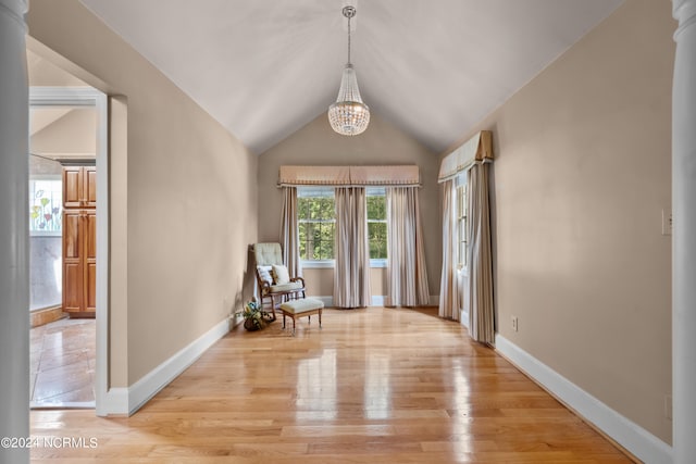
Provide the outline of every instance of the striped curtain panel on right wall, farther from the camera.
{"type": "Polygon", "coordinates": [[[439,285],[440,317],[459,321],[459,286],[457,285],[457,183],[440,184],[443,201],[443,274],[439,285]]]}

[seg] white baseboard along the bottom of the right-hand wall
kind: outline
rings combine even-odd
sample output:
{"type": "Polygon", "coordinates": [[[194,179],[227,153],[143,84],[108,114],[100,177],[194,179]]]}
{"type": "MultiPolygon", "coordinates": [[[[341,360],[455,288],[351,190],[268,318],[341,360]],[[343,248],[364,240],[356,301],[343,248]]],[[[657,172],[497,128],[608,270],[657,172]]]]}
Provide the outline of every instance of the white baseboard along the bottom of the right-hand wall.
{"type": "Polygon", "coordinates": [[[641,461],[647,464],[672,462],[672,447],[587,393],[501,335],[496,335],[496,350],[641,461]]]}

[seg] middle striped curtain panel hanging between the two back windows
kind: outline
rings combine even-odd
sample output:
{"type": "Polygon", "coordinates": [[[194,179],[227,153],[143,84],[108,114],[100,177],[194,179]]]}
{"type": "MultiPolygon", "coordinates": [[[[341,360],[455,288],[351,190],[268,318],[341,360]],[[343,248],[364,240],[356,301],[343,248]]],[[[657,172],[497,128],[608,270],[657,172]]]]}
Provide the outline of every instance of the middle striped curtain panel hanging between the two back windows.
{"type": "Polygon", "coordinates": [[[370,249],[368,244],[368,202],[363,187],[336,190],[336,268],[334,305],[370,305],[370,249]]]}

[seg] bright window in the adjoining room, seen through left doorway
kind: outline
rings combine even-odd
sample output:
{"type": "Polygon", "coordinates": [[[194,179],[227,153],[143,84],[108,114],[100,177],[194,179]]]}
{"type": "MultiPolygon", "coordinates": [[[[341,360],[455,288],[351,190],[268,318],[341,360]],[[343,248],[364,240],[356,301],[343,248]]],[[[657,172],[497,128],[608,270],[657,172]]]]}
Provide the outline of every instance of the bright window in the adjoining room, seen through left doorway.
{"type": "Polygon", "coordinates": [[[63,183],[61,177],[29,179],[29,233],[61,235],[63,183]]]}

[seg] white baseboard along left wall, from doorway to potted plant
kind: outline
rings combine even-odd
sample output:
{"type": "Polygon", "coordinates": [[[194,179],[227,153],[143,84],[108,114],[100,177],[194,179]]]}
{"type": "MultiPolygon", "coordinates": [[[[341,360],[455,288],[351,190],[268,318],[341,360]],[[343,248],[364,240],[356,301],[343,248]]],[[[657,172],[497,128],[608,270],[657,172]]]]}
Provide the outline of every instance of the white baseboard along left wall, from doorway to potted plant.
{"type": "Polygon", "coordinates": [[[132,415],[229,331],[225,318],[128,388],[110,388],[98,415],[132,415]]]}

